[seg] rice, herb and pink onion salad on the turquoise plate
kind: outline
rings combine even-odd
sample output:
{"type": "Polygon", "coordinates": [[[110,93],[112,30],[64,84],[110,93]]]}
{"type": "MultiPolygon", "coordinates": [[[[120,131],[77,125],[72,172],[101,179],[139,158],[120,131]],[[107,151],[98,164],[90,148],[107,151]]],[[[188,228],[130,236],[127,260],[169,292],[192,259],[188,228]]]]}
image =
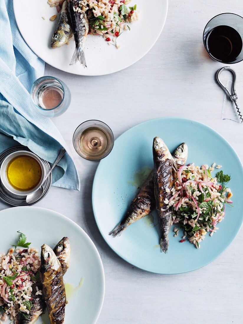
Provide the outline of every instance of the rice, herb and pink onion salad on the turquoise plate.
{"type": "MultiPolygon", "coordinates": [[[[217,224],[225,216],[225,204],[233,203],[230,200],[232,193],[227,187],[230,176],[219,171],[213,177],[211,171],[215,165],[199,167],[192,163],[180,167],[175,187],[172,188],[173,196],[164,201],[174,209],[174,236],[178,236],[181,228],[183,237],[180,242],[186,241],[188,237],[196,248],[200,248],[200,242],[208,232],[212,236],[218,230],[217,224]]],[[[217,169],[221,167],[216,166],[217,169]]]]}

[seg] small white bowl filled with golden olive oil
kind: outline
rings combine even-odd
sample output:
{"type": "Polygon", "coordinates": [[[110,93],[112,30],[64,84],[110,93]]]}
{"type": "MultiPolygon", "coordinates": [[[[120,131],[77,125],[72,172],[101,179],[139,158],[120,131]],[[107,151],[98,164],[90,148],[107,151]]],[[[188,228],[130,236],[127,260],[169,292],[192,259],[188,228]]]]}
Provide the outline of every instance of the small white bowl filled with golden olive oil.
{"type": "Polygon", "coordinates": [[[0,168],[0,179],[4,187],[19,196],[26,196],[38,190],[44,177],[42,160],[28,151],[9,154],[0,168]]]}

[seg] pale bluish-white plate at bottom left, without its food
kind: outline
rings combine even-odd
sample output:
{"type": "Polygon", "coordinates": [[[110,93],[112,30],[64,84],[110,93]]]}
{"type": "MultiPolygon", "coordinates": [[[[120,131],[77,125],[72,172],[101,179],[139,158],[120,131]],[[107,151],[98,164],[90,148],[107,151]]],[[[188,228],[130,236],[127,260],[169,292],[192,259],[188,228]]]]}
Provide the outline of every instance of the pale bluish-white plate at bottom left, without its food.
{"type": "MultiPolygon", "coordinates": [[[[77,287],[83,278],[83,285],[68,299],[64,323],[95,324],[103,305],[104,271],[96,247],[82,228],[67,217],[40,207],[8,208],[0,212],[0,219],[0,252],[7,253],[10,245],[18,241],[17,231],[23,232],[30,247],[39,252],[44,243],[54,248],[64,236],[69,238],[70,265],[64,281],[77,287]]],[[[50,324],[47,310],[36,321],[41,323],[50,324]]]]}

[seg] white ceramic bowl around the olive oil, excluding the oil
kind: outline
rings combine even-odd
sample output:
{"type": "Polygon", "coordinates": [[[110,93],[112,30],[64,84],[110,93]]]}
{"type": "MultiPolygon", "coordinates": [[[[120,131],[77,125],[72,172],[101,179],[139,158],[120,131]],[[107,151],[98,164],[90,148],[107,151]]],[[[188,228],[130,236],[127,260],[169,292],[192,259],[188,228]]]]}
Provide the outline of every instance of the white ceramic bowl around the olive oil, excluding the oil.
{"type": "Polygon", "coordinates": [[[1,165],[1,168],[0,168],[0,179],[4,185],[4,187],[14,193],[15,195],[18,195],[18,196],[27,196],[29,195],[30,193],[33,193],[35,191],[38,190],[38,188],[40,188],[40,186],[43,184],[43,181],[44,181],[44,178],[45,178],[45,168],[43,166],[43,162],[42,160],[37,156],[35,155],[34,153],[32,152],[28,152],[28,151],[17,151],[17,152],[13,152],[11,154],[9,154],[8,156],[6,156],[6,158],[3,160],[3,163],[1,165]],[[41,180],[40,182],[38,183],[38,185],[29,190],[29,191],[19,191],[15,188],[13,188],[10,183],[8,182],[8,179],[7,179],[7,175],[6,175],[6,169],[7,169],[7,165],[8,163],[16,156],[19,156],[19,155],[27,155],[27,156],[31,156],[33,157],[41,166],[41,170],[42,170],[42,177],[41,177],[41,180]]]}

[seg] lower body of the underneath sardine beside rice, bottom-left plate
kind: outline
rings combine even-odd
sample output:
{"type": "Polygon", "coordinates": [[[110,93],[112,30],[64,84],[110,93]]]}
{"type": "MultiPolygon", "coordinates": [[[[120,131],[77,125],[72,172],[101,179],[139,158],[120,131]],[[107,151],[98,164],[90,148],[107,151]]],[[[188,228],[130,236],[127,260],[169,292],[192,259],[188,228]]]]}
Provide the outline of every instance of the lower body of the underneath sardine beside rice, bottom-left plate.
{"type": "Polygon", "coordinates": [[[37,321],[39,316],[43,313],[45,309],[45,302],[42,298],[42,295],[35,295],[37,292],[36,287],[39,290],[42,289],[42,283],[36,283],[32,285],[32,307],[30,309],[30,313],[26,314],[25,317],[21,314],[19,324],[33,324],[37,321]]]}

